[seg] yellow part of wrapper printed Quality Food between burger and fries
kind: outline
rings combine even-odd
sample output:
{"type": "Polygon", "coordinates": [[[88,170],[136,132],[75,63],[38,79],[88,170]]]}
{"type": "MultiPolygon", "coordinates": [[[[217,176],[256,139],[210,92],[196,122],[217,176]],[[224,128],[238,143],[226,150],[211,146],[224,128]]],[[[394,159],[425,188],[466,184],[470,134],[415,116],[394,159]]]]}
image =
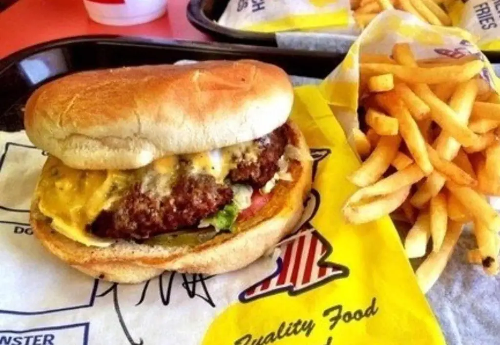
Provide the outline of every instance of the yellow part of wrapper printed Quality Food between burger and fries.
{"type": "Polygon", "coordinates": [[[275,270],[243,289],[202,343],[444,344],[390,219],[350,225],[342,218],[354,191],[345,176],[359,161],[318,87],[295,89],[291,119],[314,160],[305,212],[262,259],[274,260],[275,270]]]}

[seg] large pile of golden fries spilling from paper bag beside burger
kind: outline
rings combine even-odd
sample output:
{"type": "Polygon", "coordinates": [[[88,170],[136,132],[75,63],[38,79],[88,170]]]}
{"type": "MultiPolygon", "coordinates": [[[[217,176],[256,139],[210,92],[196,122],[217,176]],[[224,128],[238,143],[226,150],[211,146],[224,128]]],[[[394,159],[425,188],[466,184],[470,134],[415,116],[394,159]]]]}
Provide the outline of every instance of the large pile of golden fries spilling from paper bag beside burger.
{"type": "Polygon", "coordinates": [[[409,258],[424,256],[432,238],[416,270],[425,292],[468,222],[477,248],[467,260],[490,275],[499,269],[500,217],[485,195],[500,195],[500,97],[476,59],[417,61],[408,44],[396,44],[391,57],[360,57],[365,129],[352,136],[363,163],[348,177],[360,189],[342,212],[351,223],[390,213],[411,223],[409,258]]]}

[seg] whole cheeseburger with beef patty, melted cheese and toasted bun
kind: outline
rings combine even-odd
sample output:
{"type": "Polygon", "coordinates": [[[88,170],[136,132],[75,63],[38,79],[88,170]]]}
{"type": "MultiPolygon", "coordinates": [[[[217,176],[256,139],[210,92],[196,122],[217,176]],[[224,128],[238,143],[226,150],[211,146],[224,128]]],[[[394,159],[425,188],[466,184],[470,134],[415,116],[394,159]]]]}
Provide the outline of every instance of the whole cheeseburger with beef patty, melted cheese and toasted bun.
{"type": "Polygon", "coordinates": [[[37,89],[26,134],[48,152],[37,238],[94,277],[217,274],[256,260],[311,183],[286,74],[257,61],[73,74],[37,89]]]}

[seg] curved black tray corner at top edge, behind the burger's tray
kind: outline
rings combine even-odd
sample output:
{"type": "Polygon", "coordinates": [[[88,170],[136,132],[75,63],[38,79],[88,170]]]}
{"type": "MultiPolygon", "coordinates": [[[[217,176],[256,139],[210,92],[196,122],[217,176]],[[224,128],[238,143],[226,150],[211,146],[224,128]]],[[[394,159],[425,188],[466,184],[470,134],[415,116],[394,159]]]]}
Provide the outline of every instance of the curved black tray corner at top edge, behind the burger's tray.
{"type": "Polygon", "coordinates": [[[216,22],[229,0],[190,0],[187,4],[187,20],[198,30],[218,41],[257,46],[277,47],[276,35],[252,33],[222,27],[216,22]]]}

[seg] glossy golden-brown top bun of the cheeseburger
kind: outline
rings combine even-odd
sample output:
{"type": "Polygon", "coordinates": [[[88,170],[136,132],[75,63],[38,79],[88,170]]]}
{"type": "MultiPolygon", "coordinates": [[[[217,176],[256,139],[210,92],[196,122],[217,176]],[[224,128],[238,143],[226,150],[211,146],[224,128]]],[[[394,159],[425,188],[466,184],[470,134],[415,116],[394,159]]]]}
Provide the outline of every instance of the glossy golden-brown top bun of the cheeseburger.
{"type": "Polygon", "coordinates": [[[288,118],[287,75],[258,61],[76,73],[36,90],[31,142],[75,169],[135,169],[262,137],[288,118]]]}

